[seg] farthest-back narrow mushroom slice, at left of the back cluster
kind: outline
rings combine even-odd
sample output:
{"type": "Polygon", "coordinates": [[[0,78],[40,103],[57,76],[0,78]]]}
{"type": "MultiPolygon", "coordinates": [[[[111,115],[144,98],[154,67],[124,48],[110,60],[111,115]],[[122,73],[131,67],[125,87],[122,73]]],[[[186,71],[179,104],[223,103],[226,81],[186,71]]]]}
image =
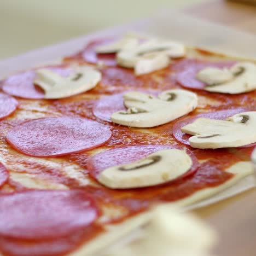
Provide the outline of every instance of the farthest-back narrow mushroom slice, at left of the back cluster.
{"type": "Polygon", "coordinates": [[[123,38],[109,44],[97,46],[96,53],[118,53],[120,50],[135,48],[139,44],[139,36],[136,34],[126,34],[123,38]]]}

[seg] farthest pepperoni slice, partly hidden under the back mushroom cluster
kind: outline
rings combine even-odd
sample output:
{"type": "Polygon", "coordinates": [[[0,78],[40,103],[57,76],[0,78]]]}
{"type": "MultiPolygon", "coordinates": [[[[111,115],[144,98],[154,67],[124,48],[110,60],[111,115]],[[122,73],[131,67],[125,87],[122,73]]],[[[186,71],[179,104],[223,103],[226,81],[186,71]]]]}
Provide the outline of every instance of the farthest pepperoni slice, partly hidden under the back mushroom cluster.
{"type": "Polygon", "coordinates": [[[117,62],[115,61],[115,53],[97,54],[95,51],[95,48],[97,46],[109,44],[113,41],[114,39],[97,39],[90,42],[88,45],[86,45],[86,48],[83,50],[83,59],[89,63],[97,63],[102,61],[105,65],[108,66],[117,65],[117,62]]]}

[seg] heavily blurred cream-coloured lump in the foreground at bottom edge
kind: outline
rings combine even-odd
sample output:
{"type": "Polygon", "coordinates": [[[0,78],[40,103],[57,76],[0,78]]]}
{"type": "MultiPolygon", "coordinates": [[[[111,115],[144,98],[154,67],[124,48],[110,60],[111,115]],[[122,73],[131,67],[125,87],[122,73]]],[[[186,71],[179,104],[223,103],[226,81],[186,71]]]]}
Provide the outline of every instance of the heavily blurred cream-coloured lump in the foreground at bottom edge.
{"type": "Polygon", "coordinates": [[[117,245],[106,256],[210,256],[216,241],[216,232],[200,219],[161,205],[152,210],[136,240],[117,245]]]}

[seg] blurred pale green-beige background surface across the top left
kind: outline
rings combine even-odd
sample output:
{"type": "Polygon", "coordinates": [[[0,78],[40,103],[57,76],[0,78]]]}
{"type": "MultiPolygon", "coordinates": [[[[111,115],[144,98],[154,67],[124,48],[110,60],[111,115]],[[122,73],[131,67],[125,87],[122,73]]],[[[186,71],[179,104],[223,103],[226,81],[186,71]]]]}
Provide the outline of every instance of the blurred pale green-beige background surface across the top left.
{"type": "Polygon", "coordinates": [[[0,59],[208,0],[0,0],[0,59]]]}

